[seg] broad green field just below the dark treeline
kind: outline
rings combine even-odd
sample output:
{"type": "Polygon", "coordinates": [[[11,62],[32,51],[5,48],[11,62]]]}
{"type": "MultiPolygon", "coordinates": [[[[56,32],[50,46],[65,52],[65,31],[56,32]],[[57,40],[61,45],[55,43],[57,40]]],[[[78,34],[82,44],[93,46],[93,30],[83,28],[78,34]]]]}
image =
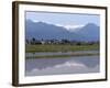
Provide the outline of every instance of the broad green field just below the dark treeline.
{"type": "Polygon", "coordinates": [[[70,51],[94,51],[99,50],[98,44],[94,45],[70,45],[70,44],[36,44],[25,45],[26,53],[34,53],[34,52],[70,52],[70,51]]]}

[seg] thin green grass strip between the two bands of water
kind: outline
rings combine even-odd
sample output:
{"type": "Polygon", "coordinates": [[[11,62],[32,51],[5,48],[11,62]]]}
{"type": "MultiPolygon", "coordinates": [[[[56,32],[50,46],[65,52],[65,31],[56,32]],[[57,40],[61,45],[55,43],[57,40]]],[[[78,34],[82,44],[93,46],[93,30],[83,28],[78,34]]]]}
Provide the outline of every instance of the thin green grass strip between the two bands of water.
{"type": "Polygon", "coordinates": [[[59,57],[72,57],[72,56],[95,56],[95,55],[99,55],[99,53],[96,53],[96,54],[90,54],[90,53],[78,53],[78,54],[67,54],[67,55],[36,55],[36,56],[30,56],[30,57],[26,57],[26,58],[59,58],[59,57]]]}

